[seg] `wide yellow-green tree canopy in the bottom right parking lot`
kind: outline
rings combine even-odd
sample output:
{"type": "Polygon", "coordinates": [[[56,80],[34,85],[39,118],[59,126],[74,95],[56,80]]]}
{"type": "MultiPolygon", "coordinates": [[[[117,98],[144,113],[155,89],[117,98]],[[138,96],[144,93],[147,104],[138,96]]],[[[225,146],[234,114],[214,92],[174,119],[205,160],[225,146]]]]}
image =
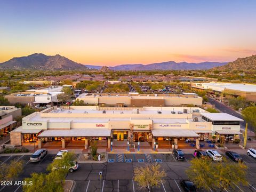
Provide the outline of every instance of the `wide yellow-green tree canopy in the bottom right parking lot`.
{"type": "Polygon", "coordinates": [[[223,191],[235,185],[247,185],[247,166],[244,163],[214,163],[202,158],[194,158],[190,163],[186,170],[188,178],[205,191],[210,191],[210,188],[223,191]]]}

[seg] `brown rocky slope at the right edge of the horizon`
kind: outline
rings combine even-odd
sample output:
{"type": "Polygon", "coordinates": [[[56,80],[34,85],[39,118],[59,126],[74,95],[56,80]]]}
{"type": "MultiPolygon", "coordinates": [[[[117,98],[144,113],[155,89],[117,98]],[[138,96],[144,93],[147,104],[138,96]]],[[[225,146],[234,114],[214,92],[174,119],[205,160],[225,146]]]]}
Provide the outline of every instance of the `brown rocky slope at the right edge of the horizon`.
{"type": "Polygon", "coordinates": [[[217,67],[218,70],[256,70],[256,55],[238,58],[225,66],[217,67]]]}

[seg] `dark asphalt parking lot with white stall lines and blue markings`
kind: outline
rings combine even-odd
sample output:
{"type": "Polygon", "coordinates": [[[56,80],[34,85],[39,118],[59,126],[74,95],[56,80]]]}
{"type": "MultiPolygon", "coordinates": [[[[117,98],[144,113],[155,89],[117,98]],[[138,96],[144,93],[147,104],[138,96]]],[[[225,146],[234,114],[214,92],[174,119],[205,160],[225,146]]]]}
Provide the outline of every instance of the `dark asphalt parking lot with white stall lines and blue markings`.
{"type": "MultiPolygon", "coordinates": [[[[17,181],[22,181],[33,172],[46,172],[46,167],[52,162],[54,156],[53,154],[47,154],[42,162],[38,163],[30,163],[29,155],[0,156],[0,161],[2,163],[9,163],[12,159],[24,161],[24,171],[17,179],[17,181]]],[[[249,166],[247,176],[249,185],[226,189],[226,192],[256,191],[256,159],[247,155],[241,156],[249,166]]],[[[177,162],[173,154],[108,154],[109,163],[79,163],[79,169],[73,173],[68,173],[66,179],[75,181],[74,191],[146,191],[140,190],[137,182],[133,180],[133,169],[138,166],[146,166],[148,163],[158,162],[166,171],[167,177],[162,180],[161,186],[153,188],[153,191],[183,192],[179,180],[187,179],[185,170],[189,167],[189,161],[192,158],[192,154],[185,154],[185,161],[177,162]],[[114,159],[114,161],[110,159],[114,159]],[[99,172],[102,172],[101,182],[99,172]]],[[[22,187],[1,186],[0,191],[22,191],[22,187]]],[[[210,191],[217,191],[217,189],[211,189],[210,191]]]]}

